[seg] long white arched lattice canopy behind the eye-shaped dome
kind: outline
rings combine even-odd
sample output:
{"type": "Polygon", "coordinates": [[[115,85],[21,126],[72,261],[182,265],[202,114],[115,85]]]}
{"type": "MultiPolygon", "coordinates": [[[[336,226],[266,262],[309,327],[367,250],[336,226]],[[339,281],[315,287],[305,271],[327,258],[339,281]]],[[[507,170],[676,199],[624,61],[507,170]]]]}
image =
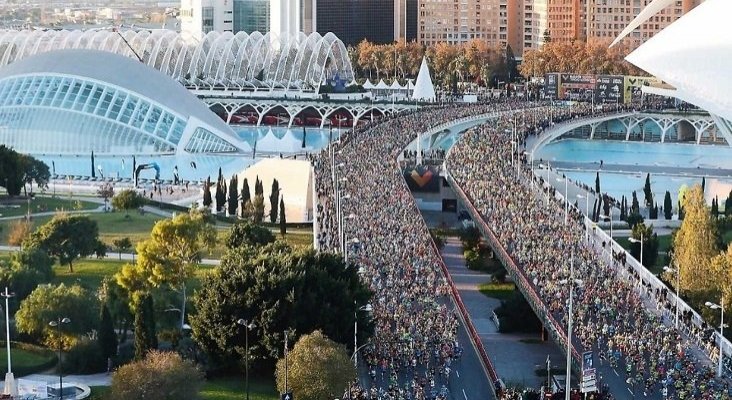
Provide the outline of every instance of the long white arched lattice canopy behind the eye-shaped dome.
{"type": "Polygon", "coordinates": [[[330,77],[353,80],[346,47],[334,34],[278,37],[209,32],[201,40],[170,30],[0,31],[0,67],[34,54],[91,49],[142,61],[193,88],[318,92],[330,77]]]}

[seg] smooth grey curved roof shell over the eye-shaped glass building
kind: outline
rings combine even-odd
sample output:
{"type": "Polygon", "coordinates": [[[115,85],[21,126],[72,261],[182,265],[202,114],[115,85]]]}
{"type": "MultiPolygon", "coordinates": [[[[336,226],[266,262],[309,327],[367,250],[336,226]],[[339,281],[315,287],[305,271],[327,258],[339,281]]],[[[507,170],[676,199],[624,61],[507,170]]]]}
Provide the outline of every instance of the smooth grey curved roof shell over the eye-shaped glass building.
{"type": "Polygon", "coordinates": [[[19,75],[77,76],[118,86],[230,134],[231,128],[169,76],[131,58],[97,50],[57,50],[0,68],[0,80],[19,75]]]}

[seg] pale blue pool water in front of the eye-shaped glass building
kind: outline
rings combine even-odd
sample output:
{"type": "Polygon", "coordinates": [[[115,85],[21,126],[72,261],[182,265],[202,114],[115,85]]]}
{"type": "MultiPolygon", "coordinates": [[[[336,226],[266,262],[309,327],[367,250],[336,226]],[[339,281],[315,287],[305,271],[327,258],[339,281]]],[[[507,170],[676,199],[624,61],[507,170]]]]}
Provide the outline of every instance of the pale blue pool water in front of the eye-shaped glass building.
{"type": "MultiPolygon", "coordinates": [[[[249,152],[236,155],[170,155],[136,157],[137,164],[156,162],[160,166],[161,179],[173,179],[173,171],[177,167],[178,175],[183,180],[205,180],[211,176],[216,179],[218,170],[221,168],[224,176],[243,171],[246,167],[265,157],[279,157],[279,154],[290,155],[302,152],[317,152],[328,145],[331,139],[331,132],[328,129],[308,128],[303,135],[302,128],[277,128],[277,127],[245,127],[233,128],[236,134],[251,148],[249,152]],[[305,147],[302,146],[305,136],[305,147]],[[256,143],[256,159],[253,158],[253,149],[256,143]],[[195,167],[194,167],[195,166],[195,167]]],[[[345,130],[344,130],[345,131],[345,130]]],[[[338,140],[339,131],[333,129],[332,139],[338,140]]],[[[58,175],[91,176],[91,155],[88,156],[58,156],[58,155],[34,155],[41,159],[49,168],[53,163],[56,165],[55,173],[58,175]]],[[[96,156],[94,159],[96,175],[113,176],[120,178],[132,177],[132,157],[96,156]]],[[[52,171],[53,172],[53,171],[52,171]]],[[[141,178],[154,178],[152,170],[143,171],[141,178]]]]}

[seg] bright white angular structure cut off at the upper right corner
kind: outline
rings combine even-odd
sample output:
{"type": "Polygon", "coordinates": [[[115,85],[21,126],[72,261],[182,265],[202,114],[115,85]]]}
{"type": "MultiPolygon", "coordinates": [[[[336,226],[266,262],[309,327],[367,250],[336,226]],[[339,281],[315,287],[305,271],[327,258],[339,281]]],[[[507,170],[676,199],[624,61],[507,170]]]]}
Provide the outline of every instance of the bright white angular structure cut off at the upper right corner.
{"type": "MultiPolygon", "coordinates": [[[[655,0],[631,22],[622,35],[673,3],[655,0]]],[[[662,30],[626,59],[661,78],[675,90],[644,88],[645,92],[673,96],[695,104],[712,115],[732,144],[732,1],[707,0],[662,30]]],[[[616,40],[616,41],[617,41],[616,40]]]]}

